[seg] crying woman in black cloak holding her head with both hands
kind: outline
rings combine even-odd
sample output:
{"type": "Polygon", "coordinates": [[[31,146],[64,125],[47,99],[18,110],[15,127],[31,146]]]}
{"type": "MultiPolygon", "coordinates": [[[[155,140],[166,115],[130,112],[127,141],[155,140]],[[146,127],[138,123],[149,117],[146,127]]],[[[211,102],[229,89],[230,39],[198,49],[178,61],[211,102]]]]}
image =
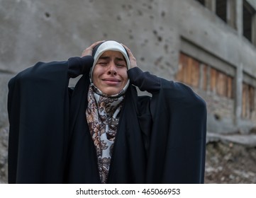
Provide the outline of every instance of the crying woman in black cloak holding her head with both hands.
{"type": "Polygon", "coordinates": [[[141,71],[118,42],[22,71],[8,110],[10,183],[204,182],[204,100],[141,71]]]}

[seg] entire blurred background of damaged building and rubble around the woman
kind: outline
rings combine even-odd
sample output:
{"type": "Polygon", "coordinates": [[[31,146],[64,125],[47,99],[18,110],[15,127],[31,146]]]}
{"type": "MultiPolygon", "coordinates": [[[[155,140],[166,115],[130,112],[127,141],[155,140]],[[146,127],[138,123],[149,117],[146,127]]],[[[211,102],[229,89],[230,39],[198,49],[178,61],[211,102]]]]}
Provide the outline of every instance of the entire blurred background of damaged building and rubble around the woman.
{"type": "Polygon", "coordinates": [[[206,100],[206,183],[256,183],[256,0],[0,0],[0,183],[9,79],[97,40],[126,44],[141,69],[206,100]]]}

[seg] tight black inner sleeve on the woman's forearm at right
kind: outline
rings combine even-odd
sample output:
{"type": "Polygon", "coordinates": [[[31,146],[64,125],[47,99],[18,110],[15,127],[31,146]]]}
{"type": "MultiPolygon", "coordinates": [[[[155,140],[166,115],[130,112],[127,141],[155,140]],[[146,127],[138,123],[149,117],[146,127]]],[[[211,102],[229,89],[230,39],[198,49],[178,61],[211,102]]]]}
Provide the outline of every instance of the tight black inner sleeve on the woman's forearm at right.
{"type": "Polygon", "coordinates": [[[157,93],[160,91],[160,78],[150,74],[148,71],[143,72],[137,66],[128,70],[130,83],[138,86],[140,91],[148,91],[149,93],[157,93]]]}

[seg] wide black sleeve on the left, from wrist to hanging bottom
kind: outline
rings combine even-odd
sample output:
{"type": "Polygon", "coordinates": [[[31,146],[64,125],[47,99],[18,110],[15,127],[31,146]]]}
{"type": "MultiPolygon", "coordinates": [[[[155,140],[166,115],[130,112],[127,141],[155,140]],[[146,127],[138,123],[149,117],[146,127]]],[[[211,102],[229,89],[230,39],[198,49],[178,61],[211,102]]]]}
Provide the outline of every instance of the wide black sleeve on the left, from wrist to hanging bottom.
{"type": "Polygon", "coordinates": [[[92,57],[38,62],[9,81],[9,183],[62,183],[69,138],[69,78],[92,57]]]}

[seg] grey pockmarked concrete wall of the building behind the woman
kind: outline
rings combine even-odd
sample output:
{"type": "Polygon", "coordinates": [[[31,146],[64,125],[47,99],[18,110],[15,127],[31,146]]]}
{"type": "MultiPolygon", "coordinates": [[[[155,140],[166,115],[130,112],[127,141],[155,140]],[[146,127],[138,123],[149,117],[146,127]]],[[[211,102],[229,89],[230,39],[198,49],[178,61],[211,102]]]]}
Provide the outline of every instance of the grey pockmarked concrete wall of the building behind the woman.
{"type": "MultiPolygon", "coordinates": [[[[194,0],[0,0],[0,129],[8,127],[6,94],[11,76],[38,61],[80,56],[96,40],[123,42],[140,68],[170,80],[177,73],[180,51],[229,68],[235,76],[234,100],[195,89],[208,102],[208,130],[253,127],[253,122],[240,120],[240,96],[243,73],[256,78],[256,48],[241,30],[243,1],[234,1],[237,29],[194,0]],[[213,103],[218,110],[227,107],[218,111],[221,121],[214,118],[213,103]]],[[[255,6],[256,1],[250,3],[255,6]]]]}

